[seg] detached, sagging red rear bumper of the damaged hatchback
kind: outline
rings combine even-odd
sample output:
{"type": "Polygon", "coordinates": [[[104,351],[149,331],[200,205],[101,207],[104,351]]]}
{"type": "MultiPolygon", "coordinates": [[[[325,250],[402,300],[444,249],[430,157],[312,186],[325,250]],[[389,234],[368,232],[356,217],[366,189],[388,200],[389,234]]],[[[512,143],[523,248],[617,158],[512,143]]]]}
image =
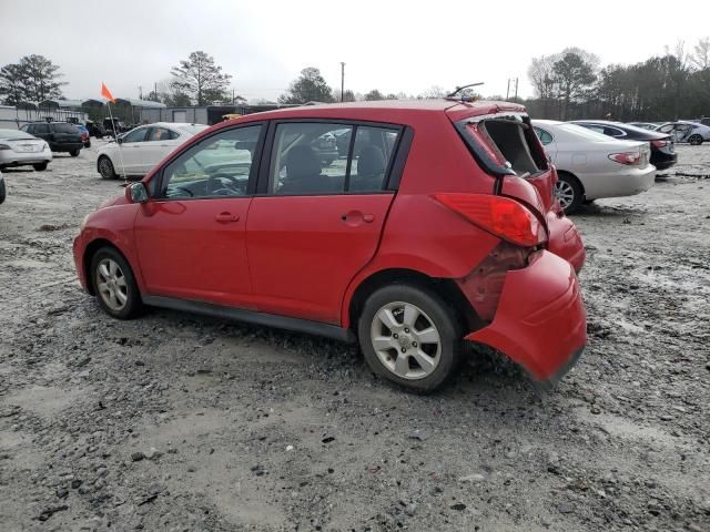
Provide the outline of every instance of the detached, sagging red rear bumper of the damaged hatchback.
{"type": "Polygon", "coordinates": [[[464,339],[501,351],[535,379],[559,380],[587,342],[587,315],[567,260],[540,250],[506,275],[493,321],[464,339]]]}

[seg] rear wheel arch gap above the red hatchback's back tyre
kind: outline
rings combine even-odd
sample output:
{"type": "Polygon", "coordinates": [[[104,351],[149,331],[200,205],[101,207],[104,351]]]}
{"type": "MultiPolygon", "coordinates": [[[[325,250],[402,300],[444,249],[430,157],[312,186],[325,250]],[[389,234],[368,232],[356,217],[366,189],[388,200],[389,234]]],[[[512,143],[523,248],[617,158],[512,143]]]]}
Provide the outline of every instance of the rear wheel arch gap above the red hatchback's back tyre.
{"type": "Polygon", "coordinates": [[[347,321],[344,326],[349,329],[357,327],[367,297],[384,286],[397,283],[433,290],[452,305],[464,329],[473,330],[479,327],[480,319],[454,279],[430,277],[422,272],[407,268],[381,269],[364,278],[355,288],[349,301],[346,301],[347,313],[344,317],[347,321]]]}

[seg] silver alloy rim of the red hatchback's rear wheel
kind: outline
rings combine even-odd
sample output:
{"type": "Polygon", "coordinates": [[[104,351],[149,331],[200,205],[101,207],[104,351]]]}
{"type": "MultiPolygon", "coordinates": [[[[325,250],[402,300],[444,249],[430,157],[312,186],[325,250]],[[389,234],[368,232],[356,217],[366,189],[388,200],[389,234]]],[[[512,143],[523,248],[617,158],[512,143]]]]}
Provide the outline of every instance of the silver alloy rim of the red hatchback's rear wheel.
{"type": "Polygon", "coordinates": [[[410,303],[389,303],[377,310],[371,341],[383,366],[403,379],[423,379],[440,360],[442,337],[436,325],[410,303]]]}

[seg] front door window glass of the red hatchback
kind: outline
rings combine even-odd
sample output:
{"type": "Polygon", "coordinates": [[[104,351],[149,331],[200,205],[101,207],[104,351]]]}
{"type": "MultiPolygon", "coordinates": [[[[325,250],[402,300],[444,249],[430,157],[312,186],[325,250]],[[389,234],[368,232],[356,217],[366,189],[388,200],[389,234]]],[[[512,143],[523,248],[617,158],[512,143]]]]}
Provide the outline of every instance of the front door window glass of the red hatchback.
{"type": "Polygon", "coordinates": [[[245,196],[261,131],[261,125],[237,127],[195,144],[165,166],[159,197],[245,196]]]}

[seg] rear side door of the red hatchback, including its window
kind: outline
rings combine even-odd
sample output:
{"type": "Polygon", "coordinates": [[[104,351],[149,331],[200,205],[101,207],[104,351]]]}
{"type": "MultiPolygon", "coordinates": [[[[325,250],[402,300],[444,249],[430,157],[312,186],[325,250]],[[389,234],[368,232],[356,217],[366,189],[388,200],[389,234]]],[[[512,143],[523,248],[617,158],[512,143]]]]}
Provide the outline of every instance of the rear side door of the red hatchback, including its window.
{"type": "Polygon", "coordinates": [[[260,176],[263,194],[254,197],[247,221],[260,311],[339,324],[345,289],[379,243],[394,197],[386,183],[400,132],[342,122],[272,125],[271,155],[260,176]],[[320,139],[336,133],[347,155],[328,164],[320,139]]]}

